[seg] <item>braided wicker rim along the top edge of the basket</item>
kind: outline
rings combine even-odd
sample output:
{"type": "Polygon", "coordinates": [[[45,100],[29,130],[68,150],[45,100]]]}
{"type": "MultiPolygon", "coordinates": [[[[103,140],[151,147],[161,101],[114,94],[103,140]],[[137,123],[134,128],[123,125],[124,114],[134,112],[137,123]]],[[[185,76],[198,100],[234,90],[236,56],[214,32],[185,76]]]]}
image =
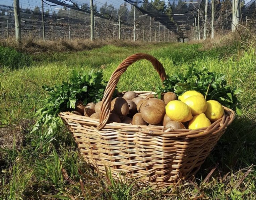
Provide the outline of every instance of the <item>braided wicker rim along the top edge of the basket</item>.
{"type": "MultiPolygon", "coordinates": [[[[155,92],[151,91],[135,91],[138,96],[146,96],[148,93],[155,94],[155,92]]],[[[119,94],[123,94],[124,92],[120,92],[119,94]]],[[[132,125],[132,124],[125,124],[125,123],[107,123],[102,131],[98,131],[99,133],[104,132],[108,129],[118,129],[122,130],[130,130],[132,132],[142,132],[145,135],[159,135],[159,136],[168,136],[168,137],[177,137],[177,136],[185,136],[185,137],[201,137],[208,134],[215,134],[222,129],[225,129],[232,121],[235,119],[235,112],[222,106],[224,108],[225,114],[218,119],[217,121],[213,122],[208,127],[203,127],[199,129],[167,129],[164,126],[147,126],[147,125],[132,125]]],[[[95,128],[99,125],[99,119],[92,119],[90,117],[76,115],[71,112],[61,112],[59,116],[62,119],[72,119],[74,122],[83,123],[90,126],[94,126],[95,128]]]]}

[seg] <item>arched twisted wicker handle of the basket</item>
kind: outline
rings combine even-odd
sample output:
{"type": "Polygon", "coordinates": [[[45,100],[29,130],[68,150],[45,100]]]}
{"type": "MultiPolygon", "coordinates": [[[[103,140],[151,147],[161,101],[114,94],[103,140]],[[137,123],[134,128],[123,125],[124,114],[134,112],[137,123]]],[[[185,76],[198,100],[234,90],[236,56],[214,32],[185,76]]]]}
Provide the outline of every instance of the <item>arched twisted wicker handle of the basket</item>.
{"type": "Polygon", "coordinates": [[[126,58],[113,72],[109,79],[109,83],[106,87],[104,92],[104,96],[102,99],[102,107],[101,107],[101,114],[100,114],[100,124],[97,126],[98,130],[101,130],[107,123],[110,115],[110,106],[113,93],[115,91],[116,85],[120,79],[120,76],[127,70],[127,68],[135,63],[138,60],[145,59],[152,63],[155,70],[158,72],[162,82],[166,79],[166,73],[163,65],[153,56],[148,54],[133,54],[126,58]]]}

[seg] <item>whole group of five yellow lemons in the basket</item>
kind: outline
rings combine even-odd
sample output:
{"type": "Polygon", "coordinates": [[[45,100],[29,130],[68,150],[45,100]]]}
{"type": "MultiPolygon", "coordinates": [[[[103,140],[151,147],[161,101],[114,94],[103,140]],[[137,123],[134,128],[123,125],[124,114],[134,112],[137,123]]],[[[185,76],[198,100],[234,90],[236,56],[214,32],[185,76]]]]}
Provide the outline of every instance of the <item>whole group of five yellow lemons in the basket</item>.
{"type": "Polygon", "coordinates": [[[178,99],[170,101],[166,105],[166,114],[172,120],[189,121],[189,129],[197,129],[210,126],[224,114],[222,105],[215,101],[206,101],[204,96],[194,90],[187,91],[178,99]]]}

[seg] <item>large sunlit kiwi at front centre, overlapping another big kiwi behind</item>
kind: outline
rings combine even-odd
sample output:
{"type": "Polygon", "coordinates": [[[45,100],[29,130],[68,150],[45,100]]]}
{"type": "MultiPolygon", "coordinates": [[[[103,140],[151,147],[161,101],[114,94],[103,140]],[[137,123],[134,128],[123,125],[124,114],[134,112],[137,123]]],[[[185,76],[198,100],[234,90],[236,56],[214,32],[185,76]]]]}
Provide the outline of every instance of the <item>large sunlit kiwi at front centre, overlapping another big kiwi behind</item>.
{"type": "Polygon", "coordinates": [[[155,125],[159,124],[164,115],[165,111],[161,111],[153,106],[146,106],[141,108],[141,116],[142,118],[149,124],[155,125]]]}

